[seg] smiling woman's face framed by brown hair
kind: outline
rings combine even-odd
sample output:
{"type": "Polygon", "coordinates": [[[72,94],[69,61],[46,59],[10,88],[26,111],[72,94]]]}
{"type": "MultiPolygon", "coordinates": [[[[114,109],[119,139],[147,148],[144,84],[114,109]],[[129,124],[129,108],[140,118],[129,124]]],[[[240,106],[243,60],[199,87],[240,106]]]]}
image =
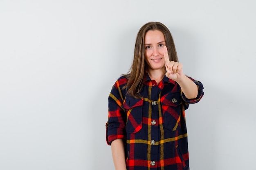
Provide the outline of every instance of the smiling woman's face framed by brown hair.
{"type": "Polygon", "coordinates": [[[164,34],[159,30],[149,30],[145,35],[145,60],[148,71],[163,69],[164,60],[164,34]]]}

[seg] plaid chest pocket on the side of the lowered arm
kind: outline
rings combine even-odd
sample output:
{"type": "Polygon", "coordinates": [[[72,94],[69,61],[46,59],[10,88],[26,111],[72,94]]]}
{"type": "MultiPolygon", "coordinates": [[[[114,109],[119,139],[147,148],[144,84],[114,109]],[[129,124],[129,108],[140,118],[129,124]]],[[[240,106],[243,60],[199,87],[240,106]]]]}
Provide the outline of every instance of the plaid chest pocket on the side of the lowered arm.
{"type": "Polygon", "coordinates": [[[139,132],[139,130],[142,128],[143,99],[136,99],[130,96],[126,96],[123,106],[127,113],[126,132],[139,132]]]}

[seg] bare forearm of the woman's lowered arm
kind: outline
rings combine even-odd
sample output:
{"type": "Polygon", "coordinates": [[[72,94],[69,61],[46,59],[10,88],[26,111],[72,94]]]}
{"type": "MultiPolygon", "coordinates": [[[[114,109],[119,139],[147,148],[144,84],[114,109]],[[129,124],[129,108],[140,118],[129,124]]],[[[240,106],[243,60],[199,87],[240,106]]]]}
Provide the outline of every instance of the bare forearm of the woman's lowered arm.
{"type": "Polygon", "coordinates": [[[116,139],[111,143],[112,157],[116,170],[126,170],[126,160],[124,153],[124,142],[116,139]]]}

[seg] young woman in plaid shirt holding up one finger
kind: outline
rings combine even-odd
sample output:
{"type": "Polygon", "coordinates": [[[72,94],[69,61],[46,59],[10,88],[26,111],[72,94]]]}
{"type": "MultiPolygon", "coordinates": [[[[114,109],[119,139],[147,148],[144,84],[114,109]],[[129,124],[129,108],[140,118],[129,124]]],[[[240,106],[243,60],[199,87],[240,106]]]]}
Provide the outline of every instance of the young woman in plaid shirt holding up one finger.
{"type": "Polygon", "coordinates": [[[184,110],[199,102],[202,89],[183,74],[166,26],[142,26],[130,71],[109,95],[106,138],[115,169],[189,170],[184,110]]]}

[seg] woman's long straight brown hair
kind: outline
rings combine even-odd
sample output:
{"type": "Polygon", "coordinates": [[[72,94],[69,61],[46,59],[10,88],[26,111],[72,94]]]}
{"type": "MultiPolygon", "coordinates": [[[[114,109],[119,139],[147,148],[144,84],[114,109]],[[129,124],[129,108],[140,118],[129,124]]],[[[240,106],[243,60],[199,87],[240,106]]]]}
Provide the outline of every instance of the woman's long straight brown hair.
{"type": "Polygon", "coordinates": [[[145,62],[145,35],[149,30],[159,30],[164,34],[169,60],[178,62],[173,37],[171,32],[164,24],[161,22],[148,22],[141,26],[135,42],[132,66],[130,67],[128,74],[124,75],[128,78],[128,82],[125,86],[125,88],[128,89],[127,93],[135,98],[140,97],[139,92],[142,89],[143,80],[147,69],[145,62]]]}

